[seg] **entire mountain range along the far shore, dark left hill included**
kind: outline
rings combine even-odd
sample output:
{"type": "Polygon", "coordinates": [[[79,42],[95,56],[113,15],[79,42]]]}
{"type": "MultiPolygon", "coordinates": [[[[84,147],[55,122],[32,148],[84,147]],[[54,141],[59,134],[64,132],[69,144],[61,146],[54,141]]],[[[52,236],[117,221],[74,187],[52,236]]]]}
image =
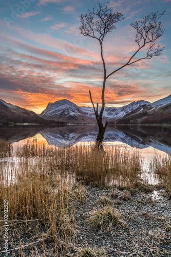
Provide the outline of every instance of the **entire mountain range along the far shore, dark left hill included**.
{"type": "MultiPolygon", "coordinates": [[[[101,107],[99,112],[100,109],[101,107]]],[[[122,107],[105,106],[103,122],[107,120],[111,124],[162,124],[171,121],[170,113],[171,95],[153,103],[138,100],[122,107]]],[[[0,123],[48,124],[52,120],[75,124],[97,123],[93,107],[78,106],[67,99],[49,102],[40,115],[0,99],[0,123]]]]}

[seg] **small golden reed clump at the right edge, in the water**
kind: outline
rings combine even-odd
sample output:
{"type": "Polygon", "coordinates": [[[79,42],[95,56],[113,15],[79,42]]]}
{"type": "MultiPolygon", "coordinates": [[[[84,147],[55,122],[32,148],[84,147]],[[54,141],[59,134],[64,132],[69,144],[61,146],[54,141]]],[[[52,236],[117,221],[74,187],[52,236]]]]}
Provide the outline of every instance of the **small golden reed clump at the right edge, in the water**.
{"type": "Polygon", "coordinates": [[[161,154],[155,151],[151,158],[150,170],[155,173],[159,179],[159,185],[165,187],[169,199],[171,199],[171,153],[161,154]]]}

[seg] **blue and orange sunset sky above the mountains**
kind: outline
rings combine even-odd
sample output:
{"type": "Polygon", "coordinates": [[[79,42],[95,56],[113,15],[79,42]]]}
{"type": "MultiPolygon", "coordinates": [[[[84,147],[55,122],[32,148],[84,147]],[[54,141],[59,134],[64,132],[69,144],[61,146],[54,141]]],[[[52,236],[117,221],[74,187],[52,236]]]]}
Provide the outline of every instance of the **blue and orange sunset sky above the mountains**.
{"type": "MultiPolygon", "coordinates": [[[[171,0],[109,0],[125,19],[103,42],[107,74],[138,49],[129,24],[163,12],[162,55],[127,66],[109,77],[106,106],[157,101],[171,92],[171,0]]],[[[100,1],[100,3],[105,3],[100,1]]],[[[68,99],[79,106],[101,103],[103,65],[96,39],[80,34],[80,15],[94,0],[1,0],[0,99],[40,114],[49,102],[68,99]]],[[[143,57],[144,51],[140,53],[143,57]]]]}

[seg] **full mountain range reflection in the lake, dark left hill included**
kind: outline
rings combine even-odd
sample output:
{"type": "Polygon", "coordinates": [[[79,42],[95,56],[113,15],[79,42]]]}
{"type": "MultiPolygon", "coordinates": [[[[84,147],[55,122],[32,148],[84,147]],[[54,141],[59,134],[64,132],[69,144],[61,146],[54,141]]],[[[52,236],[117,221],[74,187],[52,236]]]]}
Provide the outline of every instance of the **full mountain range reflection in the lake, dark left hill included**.
{"type": "MultiPolygon", "coordinates": [[[[95,141],[98,129],[89,126],[14,126],[0,127],[0,138],[17,142],[40,133],[49,145],[66,146],[77,142],[95,141]]],[[[123,142],[140,149],[153,146],[164,152],[171,152],[171,127],[151,126],[107,126],[104,142],[123,142]]]]}

